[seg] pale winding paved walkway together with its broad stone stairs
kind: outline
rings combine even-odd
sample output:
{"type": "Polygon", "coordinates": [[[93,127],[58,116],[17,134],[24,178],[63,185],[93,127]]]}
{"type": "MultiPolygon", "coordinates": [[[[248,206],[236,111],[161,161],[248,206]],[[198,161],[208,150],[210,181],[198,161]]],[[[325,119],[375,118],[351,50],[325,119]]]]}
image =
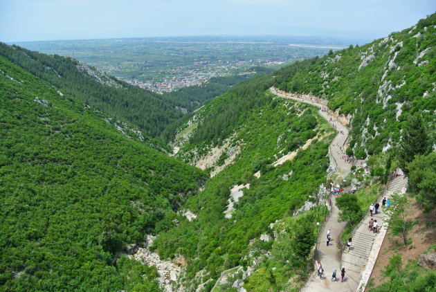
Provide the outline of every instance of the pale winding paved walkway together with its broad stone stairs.
{"type": "MultiPolygon", "coordinates": [[[[326,107],[324,104],[315,102],[313,97],[309,97],[309,100],[300,98],[300,96],[292,95],[291,93],[278,92],[276,89],[270,89],[272,93],[278,95],[282,98],[290,98],[300,102],[306,102],[308,104],[313,104],[316,107],[326,107]]],[[[307,95],[306,95],[307,96],[307,95]]],[[[330,118],[334,122],[330,122],[331,125],[336,125],[336,129],[343,131],[345,135],[338,134],[330,145],[330,152],[334,159],[337,161],[338,167],[336,174],[339,177],[345,177],[349,173],[351,165],[345,163],[343,159],[340,158],[340,146],[343,146],[345,140],[348,136],[347,128],[341,125],[335,118],[329,115],[328,112],[319,111],[320,115],[330,122],[330,118]]],[[[402,174],[402,172],[400,171],[402,174]]],[[[379,203],[383,197],[387,199],[394,193],[404,193],[406,192],[408,180],[403,176],[398,176],[388,183],[387,188],[379,198],[379,203]]],[[[336,198],[334,198],[336,199],[336,198]]],[[[372,273],[372,268],[377,256],[379,255],[379,250],[383,239],[385,237],[386,231],[388,229],[388,223],[385,222],[387,219],[387,214],[384,212],[383,208],[379,208],[379,213],[372,216],[374,220],[381,226],[379,232],[374,233],[367,228],[367,223],[370,221],[370,215],[367,214],[359,223],[352,235],[352,248],[349,253],[343,252],[340,254],[340,250],[336,247],[338,235],[345,228],[345,223],[338,223],[338,209],[333,201],[333,207],[331,211],[331,216],[327,221],[326,228],[331,230],[332,238],[331,245],[326,244],[326,234],[320,234],[318,241],[320,241],[320,247],[318,248],[318,255],[320,257],[320,262],[323,264],[325,274],[323,279],[320,280],[319,277],[311,277],[307,282],[305,288],[302,291],[309,292],[320,292],[320,291],[335,291],[335,292],[346,292],[346,291],[358,291],[358,289],[364,288],[370,278],[372,273]],[[331,282],[331,273],[336,269],[337,278],[340,280],[340,269],[345,268],[345,280],[341,282],[331,282]]],[[[369,208],[369,206],[368,206],[369,208]]],[[[325,230],[323,230],[325,231],[325,230]]]]}

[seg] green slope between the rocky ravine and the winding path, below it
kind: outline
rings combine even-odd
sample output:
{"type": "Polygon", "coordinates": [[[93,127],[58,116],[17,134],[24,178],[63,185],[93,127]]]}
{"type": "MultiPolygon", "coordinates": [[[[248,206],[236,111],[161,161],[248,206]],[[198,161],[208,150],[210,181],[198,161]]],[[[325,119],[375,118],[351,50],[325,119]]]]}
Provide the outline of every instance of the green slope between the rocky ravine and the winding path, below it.
{"type": "MultiPolygon", "coordinates": [[[[291,68],[313,63],[298,62],[291,68]]],[[[298,70],[289,71],[292,75],[298,70]]],[[[253,268],[253,261],[259,264],[271,252],[275,253],[273,264],[280,268],[277,273],[296,275],[292,265],[283,264],[293,253],[285,250],[296,239],[296,225],[316,226],[315,222],[325,215],[319,207],[292,217],[306,201],[317,200],[327,175],[327,147],[334,131],[314,107],[275,98],[267,91],[272,82],[271,75],[242,82],[197,111],[181,127],[181,131],[194,127],[180,144],[176,155],[181,159],[195,164],[208,156],[214,145],[221,147],[221,155],[208,170],[233,159],[199,195],[185,203],[184,208],[197,218],[188,220],[180,215],[180,225],[160,232],[154,241],[153,248],[161,257],[183,256],[188,264],[183,280],[189,291],[201,283],[209,291],[225,269],[238,265],[253,268]],[[294,158],[274,165],[282,156],[292,157],[292,153],[296,154],[294,158]],[[231,199],[235,188],[243,192],[236,201],[231,199]],[[261,240],[261,235],[262,239],[271,239],[275,231],[269,226],[276,220],[282,221],[278,229],[285,230],[287,237],[280,242],[261,240]]],[[[313,244],[315,229],[306,228],[305,234],[313,244]]],[[[306,264],[304,259],[292,261],[295,266],[306,264]]],[[[285,289],[287,279],[278,280],[275,287],[285,289]]]]}

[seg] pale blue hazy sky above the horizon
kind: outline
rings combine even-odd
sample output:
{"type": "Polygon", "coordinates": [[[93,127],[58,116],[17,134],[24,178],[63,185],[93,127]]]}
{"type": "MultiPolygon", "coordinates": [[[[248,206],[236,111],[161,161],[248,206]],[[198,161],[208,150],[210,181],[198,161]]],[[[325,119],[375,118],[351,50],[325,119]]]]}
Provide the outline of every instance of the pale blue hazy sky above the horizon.
{"type": "Polygon", "coordinates": [[[0,0],[0,41],[307,34],[376,39],[435,10],[436,0],[0,0]]]}

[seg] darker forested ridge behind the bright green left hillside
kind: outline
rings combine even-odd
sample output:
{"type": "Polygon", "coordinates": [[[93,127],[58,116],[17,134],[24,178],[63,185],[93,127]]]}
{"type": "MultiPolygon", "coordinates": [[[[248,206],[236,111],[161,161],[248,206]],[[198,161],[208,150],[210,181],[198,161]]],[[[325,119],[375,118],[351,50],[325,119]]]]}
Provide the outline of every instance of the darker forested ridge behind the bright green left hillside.
{"type": "Polygon", "coordinates": [[[70,57],[46,55],[3,43],[0,43],[0,55],[85,104],[136,125],[149,136],[159,136],[165,125],[183,116],[171,100],[109,77],[70,57]]]}

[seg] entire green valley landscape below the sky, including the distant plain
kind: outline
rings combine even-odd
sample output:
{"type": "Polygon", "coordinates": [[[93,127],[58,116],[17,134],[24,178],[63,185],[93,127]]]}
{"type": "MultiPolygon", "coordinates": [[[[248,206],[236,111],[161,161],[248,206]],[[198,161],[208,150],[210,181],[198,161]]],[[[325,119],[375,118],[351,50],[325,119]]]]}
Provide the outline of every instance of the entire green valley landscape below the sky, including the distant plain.
{"type": "Polygon", "coordinates": [[[0,291],[433,291],[435,35],[0,43],[0,291]]]}

